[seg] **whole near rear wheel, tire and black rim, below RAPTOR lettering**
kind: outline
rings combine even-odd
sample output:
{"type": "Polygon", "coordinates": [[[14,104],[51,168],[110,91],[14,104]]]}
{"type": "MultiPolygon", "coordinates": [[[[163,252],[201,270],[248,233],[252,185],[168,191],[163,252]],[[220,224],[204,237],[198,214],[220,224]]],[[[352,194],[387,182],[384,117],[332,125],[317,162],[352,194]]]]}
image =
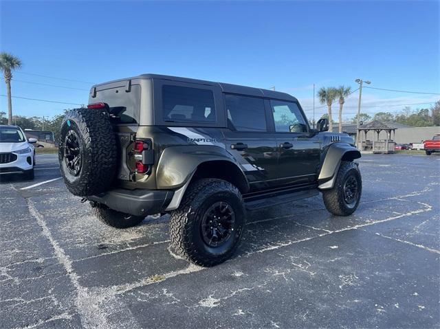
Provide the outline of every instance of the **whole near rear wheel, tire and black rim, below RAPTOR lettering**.
{"type": "Polygon", "coordinates": [[[239,246],[245,225],[245,207],[239,190],[221,179],[200,179],[186,191],[171,212],[173,249],[200,266],[228,260],[239,246]]]}

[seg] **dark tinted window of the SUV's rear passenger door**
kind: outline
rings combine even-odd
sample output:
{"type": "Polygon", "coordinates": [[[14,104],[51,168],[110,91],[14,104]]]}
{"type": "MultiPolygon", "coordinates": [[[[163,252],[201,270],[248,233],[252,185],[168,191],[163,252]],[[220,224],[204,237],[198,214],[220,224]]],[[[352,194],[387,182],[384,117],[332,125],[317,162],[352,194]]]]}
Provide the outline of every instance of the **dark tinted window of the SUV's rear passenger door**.
{"type": "Polygon", "coordinates": [[[263,99],[226,94],[225,100],[228,124],[236,131],[267,131],[263,99]]]}

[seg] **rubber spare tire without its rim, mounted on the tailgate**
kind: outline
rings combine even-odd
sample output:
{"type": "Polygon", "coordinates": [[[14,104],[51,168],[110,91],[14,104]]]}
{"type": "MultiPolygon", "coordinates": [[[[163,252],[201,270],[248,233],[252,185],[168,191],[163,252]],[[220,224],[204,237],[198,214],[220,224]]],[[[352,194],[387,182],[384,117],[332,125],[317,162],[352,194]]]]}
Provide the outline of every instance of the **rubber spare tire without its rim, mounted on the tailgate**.
{"type": "Polygon", "coordinates": [[[115,133],[108,115],[99,109],[74,109],[66,113],[61,124],[58,159],[65,185],[72,194],[88,196],[109,190],[117,157],[115,133]],[[79,140],[78,174],[72,174],[65,161],[66,136],[72,133],[79,140]]]}

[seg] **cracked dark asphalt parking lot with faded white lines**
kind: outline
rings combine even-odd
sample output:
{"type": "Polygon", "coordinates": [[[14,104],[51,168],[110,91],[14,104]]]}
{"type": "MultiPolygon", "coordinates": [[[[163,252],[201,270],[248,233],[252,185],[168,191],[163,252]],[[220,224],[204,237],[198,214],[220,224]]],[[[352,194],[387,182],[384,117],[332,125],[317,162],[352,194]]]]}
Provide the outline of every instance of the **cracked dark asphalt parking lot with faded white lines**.
{"type": "Polygon", "coordinates": [[[38,156],[34,181],[0,183],[0,327],[439,328],[439,168],[364,155],[353,216],[320,196],[251,212],[237,255],[203,269],[169,250],[167,216],[106,227],[38,156]]]}

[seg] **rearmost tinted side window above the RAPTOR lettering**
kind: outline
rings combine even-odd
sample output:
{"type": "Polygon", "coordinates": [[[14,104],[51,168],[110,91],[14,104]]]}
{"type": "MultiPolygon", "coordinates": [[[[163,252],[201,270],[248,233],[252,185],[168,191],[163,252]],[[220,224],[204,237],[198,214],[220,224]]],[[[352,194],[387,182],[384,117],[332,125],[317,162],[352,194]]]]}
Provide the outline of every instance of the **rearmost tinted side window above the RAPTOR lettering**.
{"type": "Polygon", "coordinates": [[[215,122],[214,94],[209,89],[162,86],[164,122],[215,122]]]}

